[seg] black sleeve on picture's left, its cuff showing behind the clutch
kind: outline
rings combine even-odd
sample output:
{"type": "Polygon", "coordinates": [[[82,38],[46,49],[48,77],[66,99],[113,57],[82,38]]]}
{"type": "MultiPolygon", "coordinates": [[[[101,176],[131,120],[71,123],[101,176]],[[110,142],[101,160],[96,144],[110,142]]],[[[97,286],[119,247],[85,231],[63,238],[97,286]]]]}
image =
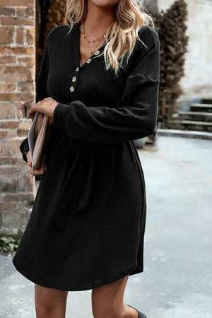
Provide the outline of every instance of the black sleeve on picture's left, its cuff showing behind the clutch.
{"type": "MultiPolygon", "coordinates": [[[[47,41],[48,41],[48,37],[49,37],[49,34],[47,35],[47,41]]],[[[49,52],[48,52],[48,45],[46,42],[45,49],[42,54],[40,71],[37,75],[35,102],[38,102],[39,100],[42,100],[49,96],[48,90],[47,90],[48,72],[49,72],[49,52]]],[[[22,143],[20,143],[19,148],[20,148],[20,152],[22,153],[23,160],[27,163],[28,160],[25,155],[25,151],[30,150],[28,137],[23,139],[22,143]]]]}

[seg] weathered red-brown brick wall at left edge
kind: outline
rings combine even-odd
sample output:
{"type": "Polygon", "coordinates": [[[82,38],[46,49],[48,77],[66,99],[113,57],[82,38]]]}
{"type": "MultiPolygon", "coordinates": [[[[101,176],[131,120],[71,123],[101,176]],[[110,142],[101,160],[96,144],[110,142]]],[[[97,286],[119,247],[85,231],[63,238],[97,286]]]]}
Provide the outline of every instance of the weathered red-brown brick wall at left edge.
{"type": "Polygon", "coordinates": [[[35,199],[35,177],[19,150],[35,102],[33,0],[0,0],[0,64],[0,233],[16,233],[25,227],[35,199]]]}

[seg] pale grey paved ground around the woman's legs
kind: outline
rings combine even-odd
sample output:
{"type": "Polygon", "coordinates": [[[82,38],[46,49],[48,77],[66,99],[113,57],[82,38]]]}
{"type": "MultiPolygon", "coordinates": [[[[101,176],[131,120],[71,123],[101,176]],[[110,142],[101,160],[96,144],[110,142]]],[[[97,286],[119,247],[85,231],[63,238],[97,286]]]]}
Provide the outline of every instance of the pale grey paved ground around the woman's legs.
{"type": "MultiPolygon", "coordinates": [[[[212,317],[212,141],[158,136],[139,151],[148,213],[145,268],[124,302],[148,318],[212,317]]],[[[34,284],[0,257],[0,317],[34,318],[34,284]]],[[[69,292],[67,318],[91,318],[90,290],[69,292]]]]}

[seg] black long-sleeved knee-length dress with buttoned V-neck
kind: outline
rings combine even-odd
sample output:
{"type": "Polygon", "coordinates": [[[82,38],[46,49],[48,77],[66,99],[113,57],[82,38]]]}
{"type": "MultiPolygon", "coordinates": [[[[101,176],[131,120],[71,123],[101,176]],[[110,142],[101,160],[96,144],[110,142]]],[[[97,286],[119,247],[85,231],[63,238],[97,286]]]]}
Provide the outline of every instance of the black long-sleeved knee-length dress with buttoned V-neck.
{"type": "MultiPolygon", "coordinates": [[[[81,67],[79,23],[50,30],[36,102],[57,100],[40,181],[13,264],[34,283],[88,290],[143,271],[146,187],[134,140],[153,134],[160,42],[143,26],[119,76],[102,45],[81,67]]],[[[20,144],[23,160],[28,139],[20,144]]]]}

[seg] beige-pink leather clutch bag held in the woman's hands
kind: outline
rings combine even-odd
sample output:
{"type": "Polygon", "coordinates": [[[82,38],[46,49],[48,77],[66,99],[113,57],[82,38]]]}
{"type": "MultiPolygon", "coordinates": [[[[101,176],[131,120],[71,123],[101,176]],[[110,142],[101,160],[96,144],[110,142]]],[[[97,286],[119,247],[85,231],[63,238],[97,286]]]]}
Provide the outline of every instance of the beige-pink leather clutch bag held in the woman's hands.
{"type": "Polygon", "coordinates": [[[28,133],[33,172],[40,168],[42,157],[45,157],[45,150],[50,139],[50,126],[48,122],[49,116],[37,111],[28,133]]]}

